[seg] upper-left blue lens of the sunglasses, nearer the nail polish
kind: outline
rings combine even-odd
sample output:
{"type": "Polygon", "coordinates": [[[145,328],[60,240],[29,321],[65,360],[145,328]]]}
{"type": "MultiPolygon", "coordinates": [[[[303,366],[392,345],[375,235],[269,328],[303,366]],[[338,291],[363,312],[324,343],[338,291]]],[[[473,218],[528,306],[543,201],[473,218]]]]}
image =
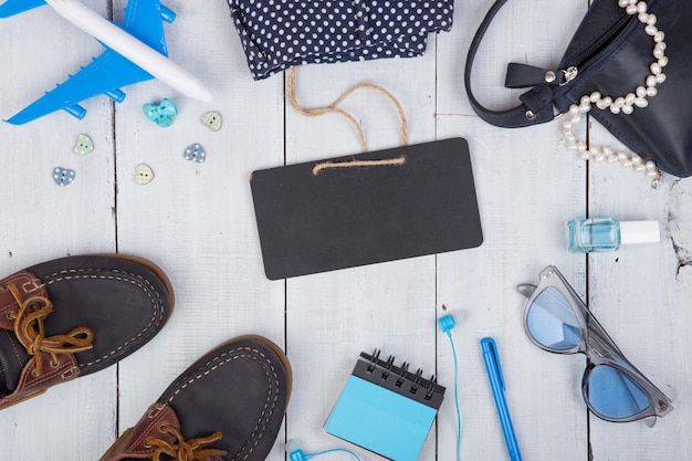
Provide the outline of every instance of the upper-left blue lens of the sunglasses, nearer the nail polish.
{"type": "Polygon", "coordinates": [[[526,328],[535,340],[548,349],[568,350],[581,339],[577,316],[555,286],[545,289],[531,304],[526,328]]]}

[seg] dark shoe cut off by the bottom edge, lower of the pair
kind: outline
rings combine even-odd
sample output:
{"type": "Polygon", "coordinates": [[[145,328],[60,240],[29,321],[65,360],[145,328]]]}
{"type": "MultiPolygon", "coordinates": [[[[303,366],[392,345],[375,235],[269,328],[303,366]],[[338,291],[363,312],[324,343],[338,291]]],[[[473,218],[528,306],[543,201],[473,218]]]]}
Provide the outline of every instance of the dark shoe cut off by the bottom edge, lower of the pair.
{"type": "Polygon", "coordinates": [[[262,461],[291,395],[291,365],[261,336],[241,336],[188,367],[101,461],[262,461]]]}

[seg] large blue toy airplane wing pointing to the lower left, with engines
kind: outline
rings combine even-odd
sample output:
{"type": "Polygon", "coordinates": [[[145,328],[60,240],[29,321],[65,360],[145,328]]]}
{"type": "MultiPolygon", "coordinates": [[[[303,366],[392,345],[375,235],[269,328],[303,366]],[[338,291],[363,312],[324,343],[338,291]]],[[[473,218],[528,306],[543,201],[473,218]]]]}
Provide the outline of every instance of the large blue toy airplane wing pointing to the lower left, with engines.
{"type": "Polygon", "coordinates": [[[50,92],[24,109],[7,119],[12,125],[23,125],[39,117],[65,109],[77,118],[84,118],[86,109],[78,105],[84,99],[105,94],[120,103],[125,98],[123,86],[151,80],[154,76],[133,64],[115,51],[107,49],[101,56],[60,83],[50,92]]]}

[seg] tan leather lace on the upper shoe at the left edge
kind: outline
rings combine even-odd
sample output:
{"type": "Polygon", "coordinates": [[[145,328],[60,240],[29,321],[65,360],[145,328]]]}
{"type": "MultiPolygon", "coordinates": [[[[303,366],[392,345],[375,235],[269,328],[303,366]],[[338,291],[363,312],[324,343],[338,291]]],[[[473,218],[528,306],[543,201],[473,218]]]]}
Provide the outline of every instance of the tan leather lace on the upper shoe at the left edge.
{"type": "Polygon", "coordinates": [[[10,284],[8,289],[19,305],[19,311],[9,312],[8,317],[14,321],[14,334],[27,349],[27,354],[35,357],[36,365],[32,371],[34,376],[43,373],[41,353],[49,354],[51,365],[57,366],[59,354],[74,354],[92,348],[94,333],[85,326],[73,328],[64,335],[46,337],[43,321],[53,312],[53,303],[44,296],[31,296],[24,300],[13,284],[10,284]]]}

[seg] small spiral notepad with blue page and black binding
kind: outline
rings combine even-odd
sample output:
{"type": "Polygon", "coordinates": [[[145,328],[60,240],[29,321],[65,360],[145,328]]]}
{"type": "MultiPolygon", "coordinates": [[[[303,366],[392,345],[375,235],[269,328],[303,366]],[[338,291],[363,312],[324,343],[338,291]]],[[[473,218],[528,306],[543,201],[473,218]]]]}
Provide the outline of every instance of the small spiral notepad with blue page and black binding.
{"type": "Polygon", "coordinates": [[[438,413],[444,387],[422,370],[408,370],[379,352],[360,354],[325,430],[347,442],[396,461],[416,461],[438,413]]]}

